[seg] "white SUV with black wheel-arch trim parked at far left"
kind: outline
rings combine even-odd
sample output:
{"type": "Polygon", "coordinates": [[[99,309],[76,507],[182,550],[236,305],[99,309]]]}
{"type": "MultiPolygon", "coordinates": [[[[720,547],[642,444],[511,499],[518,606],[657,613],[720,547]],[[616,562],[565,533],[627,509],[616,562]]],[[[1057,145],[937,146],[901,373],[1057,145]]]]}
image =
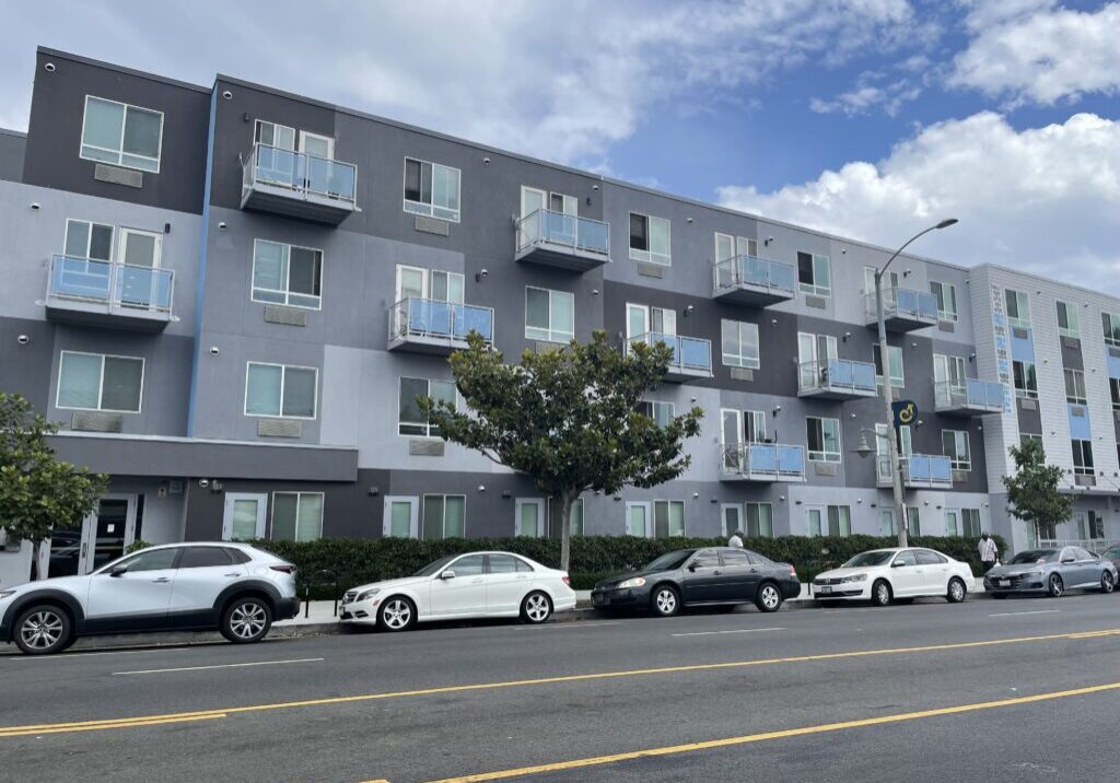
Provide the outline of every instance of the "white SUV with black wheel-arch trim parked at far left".
{"type": "Polygon", "coordinates": [[[86,576],[0,590],[0,640],[31,655],[60,652],[80,636],[148,631],[216,630],[246,644],[298,612],[290,562],[242,543],[176,543],[86,576]]]}

